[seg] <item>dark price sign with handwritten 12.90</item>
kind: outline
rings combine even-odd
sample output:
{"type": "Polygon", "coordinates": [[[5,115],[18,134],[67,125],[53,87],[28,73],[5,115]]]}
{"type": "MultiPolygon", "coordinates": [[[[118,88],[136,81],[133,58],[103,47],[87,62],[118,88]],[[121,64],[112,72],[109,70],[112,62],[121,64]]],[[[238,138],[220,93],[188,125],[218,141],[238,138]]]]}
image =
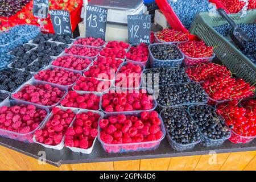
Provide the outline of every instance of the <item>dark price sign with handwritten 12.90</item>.
{"type": "Polygon", "coordinates": [[[130,44],[150,44],[151,15],[127,15],[130,44]]]}

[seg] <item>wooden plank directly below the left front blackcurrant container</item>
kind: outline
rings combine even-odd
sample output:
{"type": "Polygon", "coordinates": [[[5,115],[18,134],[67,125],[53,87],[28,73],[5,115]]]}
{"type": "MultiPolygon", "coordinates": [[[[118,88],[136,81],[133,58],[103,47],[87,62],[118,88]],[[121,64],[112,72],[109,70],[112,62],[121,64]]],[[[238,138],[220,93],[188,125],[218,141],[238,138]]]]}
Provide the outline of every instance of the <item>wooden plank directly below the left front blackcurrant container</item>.
{"type": "Polygon", "coordinates": [[[169,171],[192,171],[195,169],[197,162],[199,162],[200,155],[183,156],[171,158],[169,171]]]}

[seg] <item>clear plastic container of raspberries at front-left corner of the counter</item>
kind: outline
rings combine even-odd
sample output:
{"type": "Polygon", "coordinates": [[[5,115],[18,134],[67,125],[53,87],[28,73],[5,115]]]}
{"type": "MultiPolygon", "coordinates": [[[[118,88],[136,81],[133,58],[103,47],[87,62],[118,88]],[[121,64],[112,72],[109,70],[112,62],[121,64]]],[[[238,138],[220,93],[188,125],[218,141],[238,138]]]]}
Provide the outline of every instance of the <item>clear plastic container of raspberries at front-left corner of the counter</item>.
{"type": "MultiPolygon", "coordinates": [[[[2,102],[0,104],[0,107],[2,107],[2,106],[22,105],[22,104],[27,105],[23,101],[5,100],[4,102],[2,102]]],[[[2,137],[18,140],[20,142],[33,143],[32,138],[33,138],[33,135],[34,135],[35,131],[38,130],[40,126],[42,126],[42,124],[46,121],[46,119],[49,115],[49,110],[42,107],[42,106],[36,106],[36,109],[46,110],[47,116],[46,116],[46,118],[43,119],[43,121],[40,123],[40,125],[35,130],[31,131],[30,133],[21,134],[21,133],[15,133],[13,131],[0,129],[0,135],[2,137]]]]}

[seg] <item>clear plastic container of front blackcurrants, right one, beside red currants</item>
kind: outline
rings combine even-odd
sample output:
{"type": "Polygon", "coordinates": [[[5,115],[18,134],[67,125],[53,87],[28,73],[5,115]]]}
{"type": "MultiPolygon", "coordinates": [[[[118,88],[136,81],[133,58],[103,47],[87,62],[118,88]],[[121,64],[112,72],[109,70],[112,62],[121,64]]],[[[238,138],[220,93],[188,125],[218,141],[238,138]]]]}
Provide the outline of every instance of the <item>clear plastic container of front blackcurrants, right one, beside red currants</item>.
{"type": "MultiPolygon", "coordinates": [[[[212,106],[207,105],[207,104],[203,104],[203,106],[210,107],[210,109],[212,109],[212,110],[214,111],[214,113],[217,114],[217,113],[216,113],[216,110],[215,110],[212,106]]],[[[190,115],[191,115],[191,111],[190,111],[191,107],[192,107],[192,106],[189,106],[189,107],[188,107],[188,113],[189,113],[190,115]]],[[[191,117],[193,118],[192,115],[191,115],[191,117]]],[[[224,118],[222,118],[221,115],[218,115],[218,118],[219,118],[220,120],[222,120],[222,121],[225,122],[224,118]]],[[[193,119],[194,119],[194,118],[193,118],[193,119]]],[[[196,122],[195,122],[195,123],[196,123],[196,122]]],[[[196,125],[197,125],[197,123],[196,123],[196,125]]],[[[221,124],[218,123],[218,125],[221,125],[221,124]]],[[[198,127],[198,125],[197,125],[197,127],[198,127]]],[[[229,130],[229,127],[226,126],[226,124],[225,124],[225,126],[222,126],[222,128],[224,128],[224,127],[229,130]]],[[[200,131],[200,133],[201,133],[200,128],[199,128],[199,131],[200,131]]],[[[229,130],[229,131],[230,131],[230,130],[229,130]]],[[[230,137],[231,137],[231,131],[230,131],[229,137],[220,138],[220,139],[211,139],[211,138],[208,138],[207,136],[205,136],[203,133],[201,133],[201,142],[200,142],[200,143],[203,144],[203,146],[206,146],[206,147],[220,146],[222,143],[224,143],[224,142],[225,142],[227,139],[229,139],[230,137]]]]}

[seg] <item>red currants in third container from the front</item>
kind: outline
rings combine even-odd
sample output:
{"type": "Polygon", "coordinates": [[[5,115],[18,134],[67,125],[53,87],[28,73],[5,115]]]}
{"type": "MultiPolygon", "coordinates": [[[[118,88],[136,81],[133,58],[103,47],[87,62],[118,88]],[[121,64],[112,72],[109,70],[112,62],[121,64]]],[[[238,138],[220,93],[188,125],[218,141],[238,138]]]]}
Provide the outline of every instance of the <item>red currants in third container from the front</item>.
{"type": "Polygon", "coordinates": [[[185,69],[189,78],[196,82],[214,80],[215,78],[231,77],[232,74],[225,66],[208,63],[197,64],[196,67],[188,67],[185,69]]]}

